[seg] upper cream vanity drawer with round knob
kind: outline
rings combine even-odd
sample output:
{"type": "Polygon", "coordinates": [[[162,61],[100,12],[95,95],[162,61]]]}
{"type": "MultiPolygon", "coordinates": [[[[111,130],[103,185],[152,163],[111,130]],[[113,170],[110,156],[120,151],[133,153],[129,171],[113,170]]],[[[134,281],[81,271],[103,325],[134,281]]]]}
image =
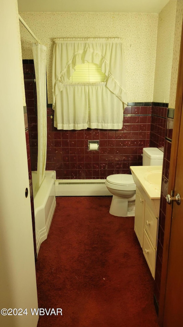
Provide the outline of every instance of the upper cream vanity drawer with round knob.
{"type": "Polygon", "coordinates": [[[144,229],[146,230],[153,247],[156,248],[158,219],[155,217],[147,203],[145,206],[144,229]]]}

